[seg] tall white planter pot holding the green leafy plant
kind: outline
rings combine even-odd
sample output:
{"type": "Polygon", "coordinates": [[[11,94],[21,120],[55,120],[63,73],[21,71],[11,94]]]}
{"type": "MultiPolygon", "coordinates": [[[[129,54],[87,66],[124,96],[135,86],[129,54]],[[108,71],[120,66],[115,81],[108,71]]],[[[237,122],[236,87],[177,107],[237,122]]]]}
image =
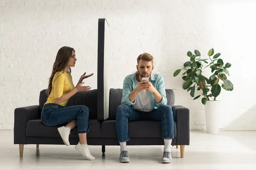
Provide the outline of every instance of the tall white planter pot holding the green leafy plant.
{"type": "Polygon", "coordinates": [[[207,101],[204,105],[207,133],[218,133],[220,101],[207,101]]]}

